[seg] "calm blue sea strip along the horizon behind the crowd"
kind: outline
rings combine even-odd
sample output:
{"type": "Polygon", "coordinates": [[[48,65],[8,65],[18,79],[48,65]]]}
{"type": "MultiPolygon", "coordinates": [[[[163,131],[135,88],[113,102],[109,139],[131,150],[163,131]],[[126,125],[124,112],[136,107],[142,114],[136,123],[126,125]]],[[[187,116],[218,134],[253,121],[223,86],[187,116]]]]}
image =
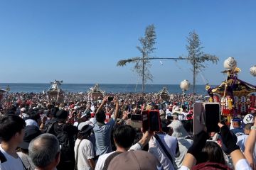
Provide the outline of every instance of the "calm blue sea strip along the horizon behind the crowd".
{"type": "MultiPolygon", "coordinates": [[[[0,88],[6,89],[6,86],[10,86],[12,93],[16,92],[26,92],[26,93],[40,93],[47,91],[50,87],[50,84],[14,84],[14,83],[1,83],[0,88]]],[[[61,84],[61,89],[65,92],[86,92],[89,91],[89,88],[95,84],[61,84]]],[[[156,93],[160,91],[164,86],[167,87],[168,91],[171,94],[181,93],[181,89],[178,84],[146,84],[145,92],[146,93],[156,93]]],[[[214,86],[213,86],[214,87],[214,86]]],[[[141,84],[100,84],[100,89],[106,91],[107,93],[139,93],[142,91],[141,84]]],[[[192,93],[192,86],[186,92],[186,94],[192,93]]],[[[196,94],[207,94],[204,85],[196,86],[196,94]]]]}

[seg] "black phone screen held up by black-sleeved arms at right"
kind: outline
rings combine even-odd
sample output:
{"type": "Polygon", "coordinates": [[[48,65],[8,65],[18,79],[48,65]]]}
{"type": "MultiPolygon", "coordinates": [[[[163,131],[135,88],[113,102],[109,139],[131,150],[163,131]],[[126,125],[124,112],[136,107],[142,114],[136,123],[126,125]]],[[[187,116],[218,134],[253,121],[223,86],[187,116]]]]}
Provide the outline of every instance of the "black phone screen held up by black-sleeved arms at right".
{"type": "Polygon", "coordinates": [[[207,132],[220,132],[220,105],[218,103],[206,103],[206,128],[207,132]]]}

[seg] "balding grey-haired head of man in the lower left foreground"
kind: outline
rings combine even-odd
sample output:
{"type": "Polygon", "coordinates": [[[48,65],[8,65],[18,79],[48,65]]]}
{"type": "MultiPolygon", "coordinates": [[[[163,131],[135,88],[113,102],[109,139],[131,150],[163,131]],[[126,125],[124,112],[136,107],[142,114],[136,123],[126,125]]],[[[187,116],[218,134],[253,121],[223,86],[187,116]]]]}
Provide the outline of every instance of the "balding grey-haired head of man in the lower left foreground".
{"type": "Polygon", "coordinates": [[[32,140],[28,147],[28,154],[36,167],[46,167],[56,159],[60,152],[60,145],[57,137],[46,133],[39,135],[32,140]]]}

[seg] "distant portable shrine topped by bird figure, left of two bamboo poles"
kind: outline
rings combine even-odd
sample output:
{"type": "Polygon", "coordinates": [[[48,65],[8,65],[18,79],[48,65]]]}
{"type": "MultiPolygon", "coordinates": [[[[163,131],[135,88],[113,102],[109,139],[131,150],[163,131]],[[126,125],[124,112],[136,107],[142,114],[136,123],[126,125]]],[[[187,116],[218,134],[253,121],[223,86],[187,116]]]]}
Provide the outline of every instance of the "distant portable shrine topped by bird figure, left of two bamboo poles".
{"type": "Polygon", "coordinates": [[[54,80],[50,82],[51,86],[47,91],[47,97],[49,102],[63,103],[64,91],[60,89],[60,85],[63,81],[54,80]]]}

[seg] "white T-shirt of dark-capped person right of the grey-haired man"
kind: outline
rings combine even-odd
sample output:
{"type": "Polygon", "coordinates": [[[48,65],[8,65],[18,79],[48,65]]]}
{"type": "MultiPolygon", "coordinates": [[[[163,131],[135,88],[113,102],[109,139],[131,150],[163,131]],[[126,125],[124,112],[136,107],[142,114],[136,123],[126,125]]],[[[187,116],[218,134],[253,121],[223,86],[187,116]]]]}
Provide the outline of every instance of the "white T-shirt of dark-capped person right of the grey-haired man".
{"type": "MultiPolygon", "coordinates": [[[[75,159],[77,159],[77,148],[80,140],[77,139],[75,141],[75,159]]],[[[93,151],[93,145],[90,140],[82,140],[80,142],[79,148],[78,148],[78,170],[80,169],[86,169],[91,170],[91,166],[88,162],[88,159],[92,159],[94,157],[94,151],[93,151]]]]}

